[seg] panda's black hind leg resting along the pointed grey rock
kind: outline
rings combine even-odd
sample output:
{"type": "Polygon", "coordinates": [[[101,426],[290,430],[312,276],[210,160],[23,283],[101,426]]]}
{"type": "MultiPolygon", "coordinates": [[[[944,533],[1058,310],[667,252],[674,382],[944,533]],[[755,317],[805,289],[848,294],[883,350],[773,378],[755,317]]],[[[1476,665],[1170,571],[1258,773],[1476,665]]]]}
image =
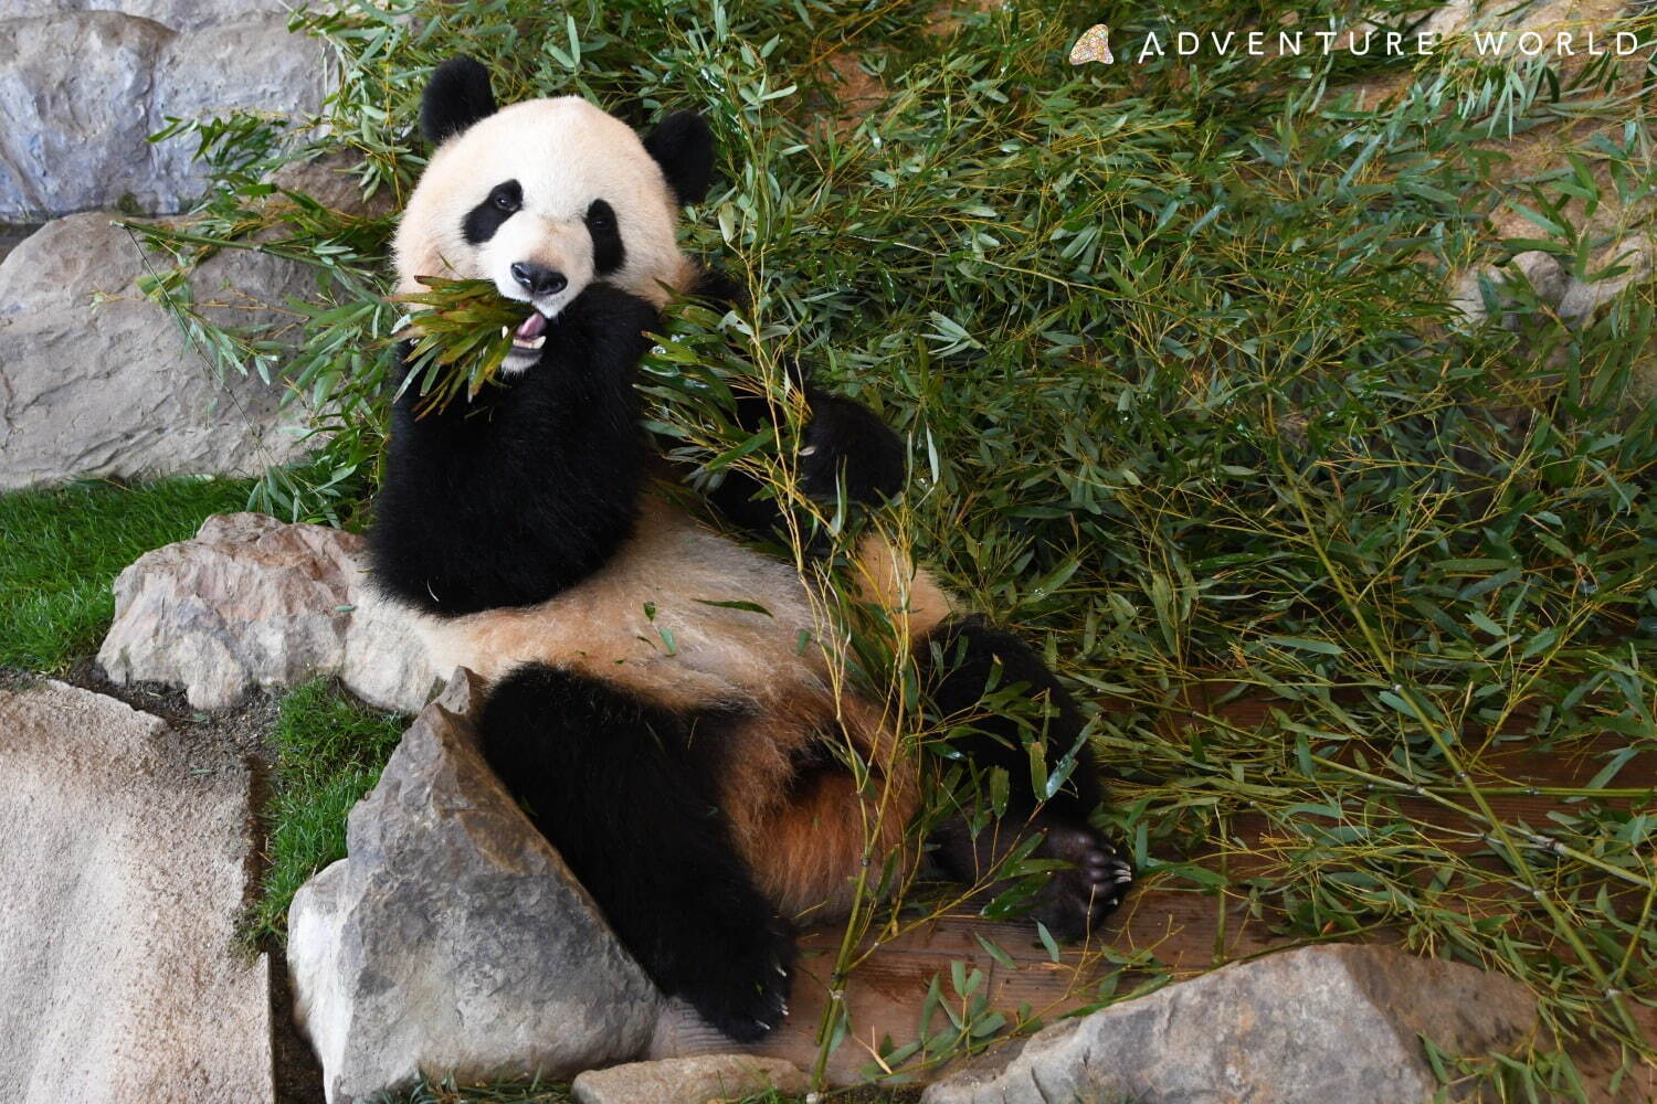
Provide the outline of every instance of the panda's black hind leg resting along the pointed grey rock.
{"type": "Polygon", "coordinates": [[[689,753],[699,723],[610,684],[519,667],[482,750],[656,986],[737,1041],[787,1015],[794,934],[761,895],[689,753]]]}

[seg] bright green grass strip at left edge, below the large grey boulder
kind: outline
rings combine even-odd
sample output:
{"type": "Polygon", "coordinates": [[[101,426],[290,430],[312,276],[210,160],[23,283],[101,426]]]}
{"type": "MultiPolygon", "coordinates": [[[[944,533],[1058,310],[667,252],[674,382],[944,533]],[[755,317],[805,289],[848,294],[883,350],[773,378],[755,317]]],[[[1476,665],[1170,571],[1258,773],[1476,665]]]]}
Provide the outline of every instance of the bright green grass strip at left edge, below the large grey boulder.
{"type": "Polygon", "coordinates": [[[109,584],[143,553],[242,510],[245,480],[73,483],[0,495],[0,664],[58,674],[98,650],[109,584]]]}

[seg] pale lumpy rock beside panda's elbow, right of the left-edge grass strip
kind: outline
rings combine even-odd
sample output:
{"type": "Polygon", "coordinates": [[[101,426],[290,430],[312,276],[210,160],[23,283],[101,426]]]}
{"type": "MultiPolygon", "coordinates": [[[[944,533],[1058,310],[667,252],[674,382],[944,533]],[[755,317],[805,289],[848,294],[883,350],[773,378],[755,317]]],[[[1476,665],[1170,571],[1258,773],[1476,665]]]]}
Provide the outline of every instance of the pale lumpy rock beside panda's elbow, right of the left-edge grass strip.
{"type": "Polygon", "coordinates": [[[413,614],[368,586],[363,551],[361,536],[321,525],[207,518],[116,576],[98,664],[119,684],[182,685],[197,708],[338,675],[370,705],[418,713],[437,679],[413,614]]]}

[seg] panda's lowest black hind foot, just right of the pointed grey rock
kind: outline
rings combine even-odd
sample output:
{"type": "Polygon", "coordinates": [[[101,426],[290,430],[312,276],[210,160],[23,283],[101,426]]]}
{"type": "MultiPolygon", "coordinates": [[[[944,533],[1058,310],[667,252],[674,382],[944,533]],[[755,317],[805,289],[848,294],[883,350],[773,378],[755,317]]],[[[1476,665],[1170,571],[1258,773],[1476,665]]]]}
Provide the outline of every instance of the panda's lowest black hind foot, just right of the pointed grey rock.
{"type": "Polygon", "coordinates": [[[704,938],[706,970],[688,978],[678,995],[734,1041],[764,1038],[789,1015],[794,932],[774,917],[757,930],[706,934],[704,938]]]}

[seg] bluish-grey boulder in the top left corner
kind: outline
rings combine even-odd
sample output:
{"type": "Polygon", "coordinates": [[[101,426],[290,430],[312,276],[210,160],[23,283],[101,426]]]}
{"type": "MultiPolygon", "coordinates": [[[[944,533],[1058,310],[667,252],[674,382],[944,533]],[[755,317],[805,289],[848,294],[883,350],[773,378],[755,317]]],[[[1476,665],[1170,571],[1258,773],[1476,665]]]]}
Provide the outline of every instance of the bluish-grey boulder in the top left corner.
{"type": "Polygon", "coordinates": [[[0,58],[0,222],[184,210],[207,180],[196,142],[149,134],[239,108],[303,118],[326,71],[280,12],[189,31],[118,12],[8,18],[0,58]]]}

